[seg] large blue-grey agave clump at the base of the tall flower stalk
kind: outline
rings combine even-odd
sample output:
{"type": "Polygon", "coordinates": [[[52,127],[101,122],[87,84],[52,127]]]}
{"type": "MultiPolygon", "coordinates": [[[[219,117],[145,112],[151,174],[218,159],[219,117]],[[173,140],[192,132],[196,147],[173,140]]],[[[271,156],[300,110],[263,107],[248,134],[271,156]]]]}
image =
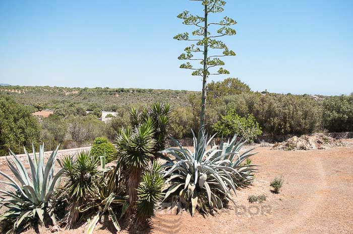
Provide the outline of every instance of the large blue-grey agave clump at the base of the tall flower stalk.
{"type": "Polygon", "coordinates": [[[165,197],[171,200],[177,197],[179,212],[182,208],[207,212],[209,209],[222,208],[226,201],[233,201],[230,192],[251,180],[254,165],[241,166],[249,158],[251,150],[239,154],[244,142],[234,136],[230,142],[214,145],[207,149],[214,136],[207,141],[202,128],[199,137],[194,135],[194,151],[184,148],[172,139],[179,148],[163,150],[173,156],[173,160],[164,165],[165,197]]]}

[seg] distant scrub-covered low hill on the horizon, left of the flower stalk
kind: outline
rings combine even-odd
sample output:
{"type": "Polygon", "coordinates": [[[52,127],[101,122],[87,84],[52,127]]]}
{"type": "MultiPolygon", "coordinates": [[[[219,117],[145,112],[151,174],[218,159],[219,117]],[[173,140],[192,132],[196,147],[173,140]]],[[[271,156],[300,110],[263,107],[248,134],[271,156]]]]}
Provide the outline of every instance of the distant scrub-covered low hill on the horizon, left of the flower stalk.
{"type": "Polygon", "coordinates": [[[154,102],[169,103],[174,107],[189,106],[191,94],[185,90],[153,90],[126,88],[66,88],[49,86],[8,86],[0,88],[0,95],[11,96],[27,106],[60,109],[82,107],[85,110],[101,108],[116,110],[154,102]]]}

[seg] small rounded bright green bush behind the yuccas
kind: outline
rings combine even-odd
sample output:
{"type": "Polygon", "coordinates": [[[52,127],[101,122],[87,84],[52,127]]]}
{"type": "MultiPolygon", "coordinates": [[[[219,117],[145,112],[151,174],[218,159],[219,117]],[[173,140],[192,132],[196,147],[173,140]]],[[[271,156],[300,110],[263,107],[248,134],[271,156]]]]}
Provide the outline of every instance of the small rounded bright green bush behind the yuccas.
{"type": "Polygon", "coordinates": [[[106,137],[95,138],[91,148],[91,155],[93,155],[93,157],[100,157],[104,155],[104,150],[106,163],[110,163],[116,159],[116,149],[114,145],[110,143],[106,137]]]}

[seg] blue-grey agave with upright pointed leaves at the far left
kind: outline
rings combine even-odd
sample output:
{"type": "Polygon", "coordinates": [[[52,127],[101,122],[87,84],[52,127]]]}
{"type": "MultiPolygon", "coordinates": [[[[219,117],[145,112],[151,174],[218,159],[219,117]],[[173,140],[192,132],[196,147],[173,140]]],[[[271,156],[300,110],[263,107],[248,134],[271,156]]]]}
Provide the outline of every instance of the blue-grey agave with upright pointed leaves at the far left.
{"type": "Polygon", "coordinates": [[[0,190],[0,204],[8,208],[1,215],[0,220],[13,222],[12,231],[27,227],[32,223],[30,220],[39,220],[43,224],[45,216],[49,216],[53,224],[56,224],[51,198],[55,184],[63,173],[63,170],[54,173],[58,148],[59,146],[52,151],[46,165],[44,164],[44,144],[39,147],[38,158],[32,145],[33,160],[24,148],[30,172],[27,172],[17,155],[10,150],[13,163],[9,159],[7,163],[15,179],[0,172],[0,175],[9,180],[1,183],[12,187],[8,190],[0,190]]]}

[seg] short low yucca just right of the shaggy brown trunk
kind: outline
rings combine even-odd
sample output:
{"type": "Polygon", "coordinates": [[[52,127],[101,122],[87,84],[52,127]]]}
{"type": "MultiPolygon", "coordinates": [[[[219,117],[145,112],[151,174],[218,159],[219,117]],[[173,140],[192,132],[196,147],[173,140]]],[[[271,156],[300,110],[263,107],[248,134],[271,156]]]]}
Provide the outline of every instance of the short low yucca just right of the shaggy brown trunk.
{"type": "Polygon", "coordinates": [[[153,161],[152,166],[142,175],[137,189],[137,223],[143,224],[154,216],[154,211],[163,200],[163,186],[164,180],[161,165],[157,161],[153,161]]]}

